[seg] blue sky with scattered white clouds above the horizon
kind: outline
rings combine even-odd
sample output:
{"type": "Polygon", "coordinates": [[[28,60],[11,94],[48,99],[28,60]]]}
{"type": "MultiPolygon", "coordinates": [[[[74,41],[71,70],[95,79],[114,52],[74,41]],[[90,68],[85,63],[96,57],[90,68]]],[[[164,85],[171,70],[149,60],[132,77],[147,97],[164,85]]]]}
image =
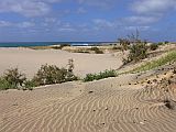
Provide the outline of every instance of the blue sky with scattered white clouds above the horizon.
{"type": "Polygon", "coordinates": [[[176,41],[176,0],[0,0],[0,42],[176,41]]]}

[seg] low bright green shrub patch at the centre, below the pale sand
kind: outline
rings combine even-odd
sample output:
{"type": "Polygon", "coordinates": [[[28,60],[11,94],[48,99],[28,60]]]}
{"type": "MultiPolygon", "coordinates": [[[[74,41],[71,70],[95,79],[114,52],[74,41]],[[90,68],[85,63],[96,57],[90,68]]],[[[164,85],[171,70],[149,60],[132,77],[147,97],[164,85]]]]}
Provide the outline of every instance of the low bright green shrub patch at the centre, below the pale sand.
{"type": "Polygon", "coordinates": [[[100,72],[99,74],[87,74],[84,78],[84,81],[92,81],[92,80],[99,80],[108,77],[116,77],[117,72],[114,69],[100,72]]]}

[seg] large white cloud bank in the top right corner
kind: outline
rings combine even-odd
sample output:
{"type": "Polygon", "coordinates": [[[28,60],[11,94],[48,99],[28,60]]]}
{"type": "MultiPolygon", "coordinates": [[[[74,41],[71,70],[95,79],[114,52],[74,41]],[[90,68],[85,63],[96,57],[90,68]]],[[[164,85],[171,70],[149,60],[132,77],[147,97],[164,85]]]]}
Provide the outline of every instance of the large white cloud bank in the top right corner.
{"type": "Polygon", "coordinates": [[[176,0],[136,0],[131,4],[136,13],[125,20],[136,24],[150,24],[160,21],[167,12],[176,9],[176,0]]]}

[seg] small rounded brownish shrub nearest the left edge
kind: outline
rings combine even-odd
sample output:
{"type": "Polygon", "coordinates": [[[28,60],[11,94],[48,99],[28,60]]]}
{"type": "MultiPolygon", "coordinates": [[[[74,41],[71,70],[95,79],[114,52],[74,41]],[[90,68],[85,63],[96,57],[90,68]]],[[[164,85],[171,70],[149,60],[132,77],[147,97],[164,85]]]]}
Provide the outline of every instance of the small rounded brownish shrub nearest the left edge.
{"type": "Polygon", "coordinates": [[[26,77],[24,74],[21,74],[18,68],[7,69],[2,78],[8,81],[13,88],[22,87],[26,77]]]}

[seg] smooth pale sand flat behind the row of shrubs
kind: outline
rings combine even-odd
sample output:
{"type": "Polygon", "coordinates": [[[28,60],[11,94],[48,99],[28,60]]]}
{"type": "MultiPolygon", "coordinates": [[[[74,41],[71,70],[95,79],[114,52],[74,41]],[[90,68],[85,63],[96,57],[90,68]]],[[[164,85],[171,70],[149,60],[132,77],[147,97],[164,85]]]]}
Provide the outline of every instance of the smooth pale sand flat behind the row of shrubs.
{"type": "Polygon", "coordinates": [[[59,50],[29,50],[29,48],[0,48],[0,75],[6,69],[18,67],[26,76],[32,77],[41,65],[50,64],[65,67],[73,58],[75,74],[82,77],[86,74],[114,69],[122,65],[121,57],[112,54],[82,54],[68,53],[59,50]]]}

